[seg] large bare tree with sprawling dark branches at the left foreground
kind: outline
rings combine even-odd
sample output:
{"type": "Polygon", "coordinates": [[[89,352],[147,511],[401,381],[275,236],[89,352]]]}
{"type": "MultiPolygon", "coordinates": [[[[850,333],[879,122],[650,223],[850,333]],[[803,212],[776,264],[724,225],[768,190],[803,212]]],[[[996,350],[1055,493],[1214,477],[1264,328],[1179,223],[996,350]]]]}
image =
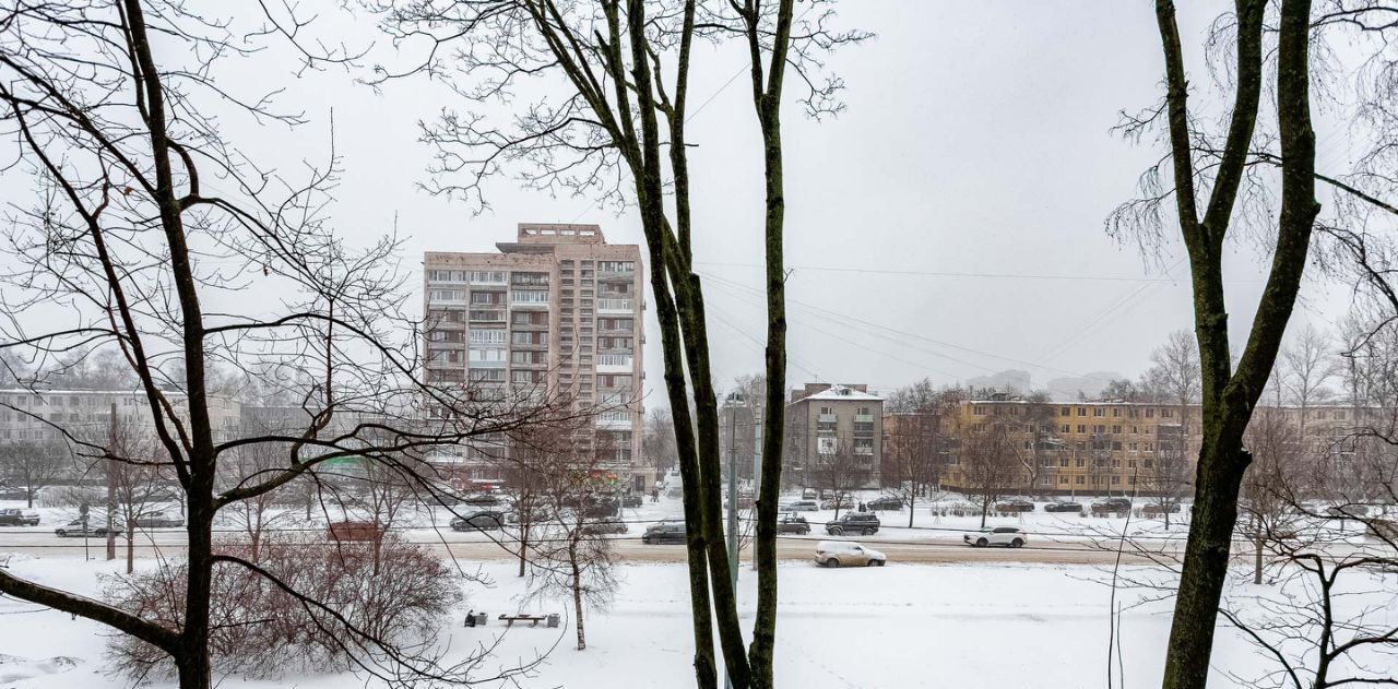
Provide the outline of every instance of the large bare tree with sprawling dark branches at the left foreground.
{"type": "Polygon", "coordinates": [[[0,122],[11,134],[4,175],[35,190],[7,228],[15,267],[0,275],[0,348],[35,369],[92,348],[119,351],[155,456],[127,456],[45,422],[84,458],[168,471],[187,505],[187,556],[169,591],[179,598],[175,618],[151,619],[3,570],[0,591],[154,646],[173,660],[182,688],[203,689],[212,683],[214,576],[233,570],[324,612],[317,619],[343,639],[376,648],[356,657],[375,678],[466,681],[473,664],[443,667],[422,647],[375,637],[274,572],[214,548],[221,510],[313,479],[320,464],[400,463],[509,433],[548,407],[531,398],[484,404],[461,386],[424,380],[421,330],[396,316],[407,299],[393,268],[397,240],[348,247],[324,222],[334,154],[309,165],[308,179],[288,180],[222,137],[218,108],[233,119],[301,123],[274,112],[264,95],[228,92],[208,77],[218,60],[256,55],[259,41],[309,31],[263,8],[270,11],[259,6],[256,17],[238,13],[225,24],[180,3],[24,3],[0,22],[0,122]],[[252,22],[242,34],[239,20],[252,22]],[[211,177],[221,191],[206,184],[211,177]],[[232,298],[250,289],[277,296],[232,298]],[[235,310],[211,310],[214,300],[235,310]],[[53,303],[66,306],[57,320],[53,303]],[[211,370],[254,356],[285,373],[277,380],[312,382],[295,390],[308,419],[299,429],[242,436],[231,422],[211,370]],[[219,486],[221,463],[263,443],[288,447],[281,465],[219,486]]]}

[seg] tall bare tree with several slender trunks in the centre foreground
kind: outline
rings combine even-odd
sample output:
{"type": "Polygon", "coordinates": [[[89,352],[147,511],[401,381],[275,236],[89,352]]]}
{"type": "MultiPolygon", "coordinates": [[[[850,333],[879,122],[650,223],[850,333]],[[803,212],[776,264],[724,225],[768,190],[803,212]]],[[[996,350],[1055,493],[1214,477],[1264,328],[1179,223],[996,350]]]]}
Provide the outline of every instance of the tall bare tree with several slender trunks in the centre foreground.
{"type": "MultiPolygon", "coordinates": [[[[783,84],[787,70],[794,70],[802,77],[798,85],[808,88],[804,102],[812,112],[837,110],[833,96],[842,84],[819,77],[819,56],[864,35],[832,31],[833,14],[823,1],[811,3],[800,17],[794,0],[703,7],[696,0],[370,4],[383,11],[396,36],[431,45],[429,56],[404,71],[452,80],[474,110],[464,115],[449,110],[426,127],[425,138],[439,154],[435,169],[439,175],[429,190],[481,207],[484,180],[512,169],[526,186],[587,194],[604,204],[635,203],[650,259],[665,354],[665,390],[684,479],[695,679],[703,689],[717,685],[713,654],[717,628],[733,685],[770,686],[786,376],[783,84]],[[755,548],[758,614],[751,647],[745,646],[727,576],[719,402],[709,362],[703,289],[693,271],[691,141],[685,123],[692,116],[688,91],[695,38],[733,38],[747,48],[762,133],[768,409],[755,548]],[[524,108],[520,112],[527,115],[512,117],[509,124],[487,115],[493,101],[512,96],[517,82],[548,77],[562,84],[562,96],[524,108]]],[[[384,73],[386,78],[393,75],[384,73]]]]}

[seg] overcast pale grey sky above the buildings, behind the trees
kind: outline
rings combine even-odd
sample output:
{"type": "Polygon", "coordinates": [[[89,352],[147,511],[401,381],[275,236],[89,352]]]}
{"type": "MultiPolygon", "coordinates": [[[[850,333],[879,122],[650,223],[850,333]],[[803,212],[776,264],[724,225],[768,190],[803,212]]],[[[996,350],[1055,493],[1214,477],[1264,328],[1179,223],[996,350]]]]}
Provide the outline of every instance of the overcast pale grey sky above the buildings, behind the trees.
{"type": "MultiPolygon", "coordinates": [[[[1169,247],[1165,271],[1103,229],[1160,154],[1109,131],[1120,110],[1160,94],[1149,3],[884,0],[839,11],[843,27],[878,38],[830,59],[849,85],[844,115],[816,123],[795,103],[786,109],[791,384],[819,377],[891,390],[1001,369],[1026,369],[1036,384],[1095,370],[1135,377],[1152,347],[1190,327],[1188,273],[1174,260],[1183,247],[1169,247]]],[[[1197,82],[1206,81],[1199,45],[1215,11],[1181,8],[1197,82]]],[[[720,386],[761,370],[765,333],[755,291],[761,150],[744,68],[741,50],[700,53],[691,87],[691,103],[702,103],[688,127],[698,144],[695,254],[709,278],[720,386]]],[[[410,236],[405,268],[418,271],[424,250],[493,250],[521,221],[597,222],[611,242],[642,242],[633,212],[523,193],[506,179],[489,187],[482,215],[418,191],[431,151],[417,143],[417,120],[461,105],[440,87],[400,82],[375,94],[329,71],[291,82],[282,98],[320,127],[334,109],[345,169],[340,232],[363,238],[397,222],[410,236]]],[[[256,148],[323,151],[317,131],[261,133],[256,148]]],[[[1239,342],[1262,268],[1239,243],[1227,266],[1239,342]]],[[[1309,282],[1296,320],[1328,326],[1338,309],[1324,285],[1309,282]]],[[[660,337],[650,316],[654,393],[660,337]]],[[[663,397],[650,394],[650,404],[663,397]]]]}

